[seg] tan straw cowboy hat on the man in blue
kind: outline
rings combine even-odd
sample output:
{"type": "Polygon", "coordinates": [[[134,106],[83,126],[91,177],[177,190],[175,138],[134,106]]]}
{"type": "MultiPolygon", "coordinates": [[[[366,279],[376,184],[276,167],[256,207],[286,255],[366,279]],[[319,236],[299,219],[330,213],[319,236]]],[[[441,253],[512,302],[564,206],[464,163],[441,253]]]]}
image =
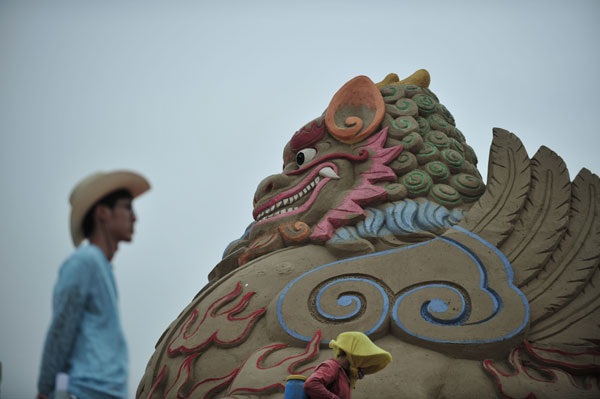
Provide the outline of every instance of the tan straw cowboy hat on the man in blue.
{"type": "Polygon", "coordinates": [[[126,170],[96,172],[82,179],[69,197],[71,203],[71,238],[77,247],[85,238],[83,218],[102,197],[113,191],[128,190],[133,198],[150,189],[150,183],[141,175],[126,170]]]}

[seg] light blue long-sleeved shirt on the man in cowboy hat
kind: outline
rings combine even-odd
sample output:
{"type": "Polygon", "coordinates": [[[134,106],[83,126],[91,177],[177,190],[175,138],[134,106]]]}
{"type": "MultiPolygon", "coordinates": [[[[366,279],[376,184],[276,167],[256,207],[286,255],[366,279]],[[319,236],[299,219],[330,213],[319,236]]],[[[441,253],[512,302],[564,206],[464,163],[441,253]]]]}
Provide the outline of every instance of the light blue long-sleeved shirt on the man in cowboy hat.
{"type": "Polygon", "coordinates": [[[61,266],[54,287],[38,392],[52,392],[56,374],[66,372],[72,395],[125,399],[127,368],[112,266],[100,248],[81,246],[61,266]]]}

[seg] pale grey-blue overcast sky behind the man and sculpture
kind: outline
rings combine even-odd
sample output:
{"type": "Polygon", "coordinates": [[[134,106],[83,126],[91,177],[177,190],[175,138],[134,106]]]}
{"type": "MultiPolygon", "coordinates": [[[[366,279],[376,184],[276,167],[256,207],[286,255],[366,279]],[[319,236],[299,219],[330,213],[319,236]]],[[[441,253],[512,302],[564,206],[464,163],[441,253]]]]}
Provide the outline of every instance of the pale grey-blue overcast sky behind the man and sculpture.
{"type": "Polygon", "coordinates": [[[572,179],[600,172],[599,18],[598,1],[0,0],[2,398],[35,395],[83,176],[153,185],[113,260],[133,397],[285,143],[354,76],[428,69],[484,176],[496,126],[572,179]]]}

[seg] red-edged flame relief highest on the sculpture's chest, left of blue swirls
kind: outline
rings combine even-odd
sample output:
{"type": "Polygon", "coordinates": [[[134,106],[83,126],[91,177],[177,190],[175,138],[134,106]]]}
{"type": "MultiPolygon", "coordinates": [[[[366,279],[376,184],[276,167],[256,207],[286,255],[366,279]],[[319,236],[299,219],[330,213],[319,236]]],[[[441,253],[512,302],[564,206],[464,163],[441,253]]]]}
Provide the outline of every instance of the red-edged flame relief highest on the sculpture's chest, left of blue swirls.
{"type": "MultiPolygon", "coordinates": [[[[177,334],[177,336],[171,341],[171,343],[167,347],[167,353],[172,355],[177,352],[191,353],[191,352],[195,352],[195,351],[200,351],[203,348],[205,348],[206,346],[208,346],[209,344],[211,344],[212,342],[216,342],[221,345],[235,345],[236,343],[241,342],[247,336],[250,328],[256,323],[258,317],[263,315],[267,310],[266,308],[260,308],[248,316],[235,317],[235,315],[237,313],[243,311],[246,308],[246,306],[248,305],[248,303],[250,301],[250,298],[255,294],[254,291],[251,291],[251,292],[248,292],[246,295],[244,295],[239,300],[239,302],[236,303],[232,308],[223,310],[222,312],[219,313],[219,309],[221,309],[228,302],[231,302],[233,299],[238,297],[241,292],[242,292],[242,285],[241,285],[241,283],[238,282],[236,287],[233,289],[233,291],[231,291],[230,293],[217,299],[208,307],[208,309],[204,312],[202,321],[200,321],[200,323],[194,329],[193,332],[188,333],[190,326],[194,323],[194,321],[198,317],[198,309],[194,309],[192,311],[192,313],[190,314],[190,316],[188,317],[188,319],[185,321],[185,323],[181,326],[181,329],[179,330],[179,334],[177,334]],[[235,328],[235,326],[242,325],[242,322],[245,322],[243,331],[235,339],[224,340],[224,339],[219,338],[220,329],[217,328],[209,334],[207,339],[200,342],[199,344],[194,345],[192,347],[187,347],[185,345],[185,342],[187,342],[190,338],[193,338],[200,331],[202,331],[203,329],[206,329],[207,324],[208,324],[208,328],[211,328],[211,325],[210,325],[211,323],[207,322],[207,320],[208,321],[214,320],[215,321],[214,323],[219,324],[219,322],[217,322],[216,320],[223,319],[223,317],[225,317],[225,319],[228,322],[232,323],[232,325],[229,326],[229,328],[228,328],[229,330],[232,328],[235,328]],[[180,344],[176,348],[173,348],[172,346],[179,339],[184,341],[184,343],[180,344]]],[[[215,328],[215,327],[213,327],[213,328],[215,328]]]]}

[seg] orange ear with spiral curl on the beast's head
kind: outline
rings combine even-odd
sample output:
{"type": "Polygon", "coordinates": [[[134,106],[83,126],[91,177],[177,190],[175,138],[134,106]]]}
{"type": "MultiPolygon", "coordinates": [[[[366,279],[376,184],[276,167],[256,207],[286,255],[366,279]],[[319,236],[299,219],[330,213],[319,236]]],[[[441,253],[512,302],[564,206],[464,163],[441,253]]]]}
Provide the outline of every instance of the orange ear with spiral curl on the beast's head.
{"type": "Polygon", "coordinates": [[[375,83],[366,76],[350,80],[331,99],[325,124],[333,137],[347,144],[369,137],[383,120],[385,104],[375,83]]]}

